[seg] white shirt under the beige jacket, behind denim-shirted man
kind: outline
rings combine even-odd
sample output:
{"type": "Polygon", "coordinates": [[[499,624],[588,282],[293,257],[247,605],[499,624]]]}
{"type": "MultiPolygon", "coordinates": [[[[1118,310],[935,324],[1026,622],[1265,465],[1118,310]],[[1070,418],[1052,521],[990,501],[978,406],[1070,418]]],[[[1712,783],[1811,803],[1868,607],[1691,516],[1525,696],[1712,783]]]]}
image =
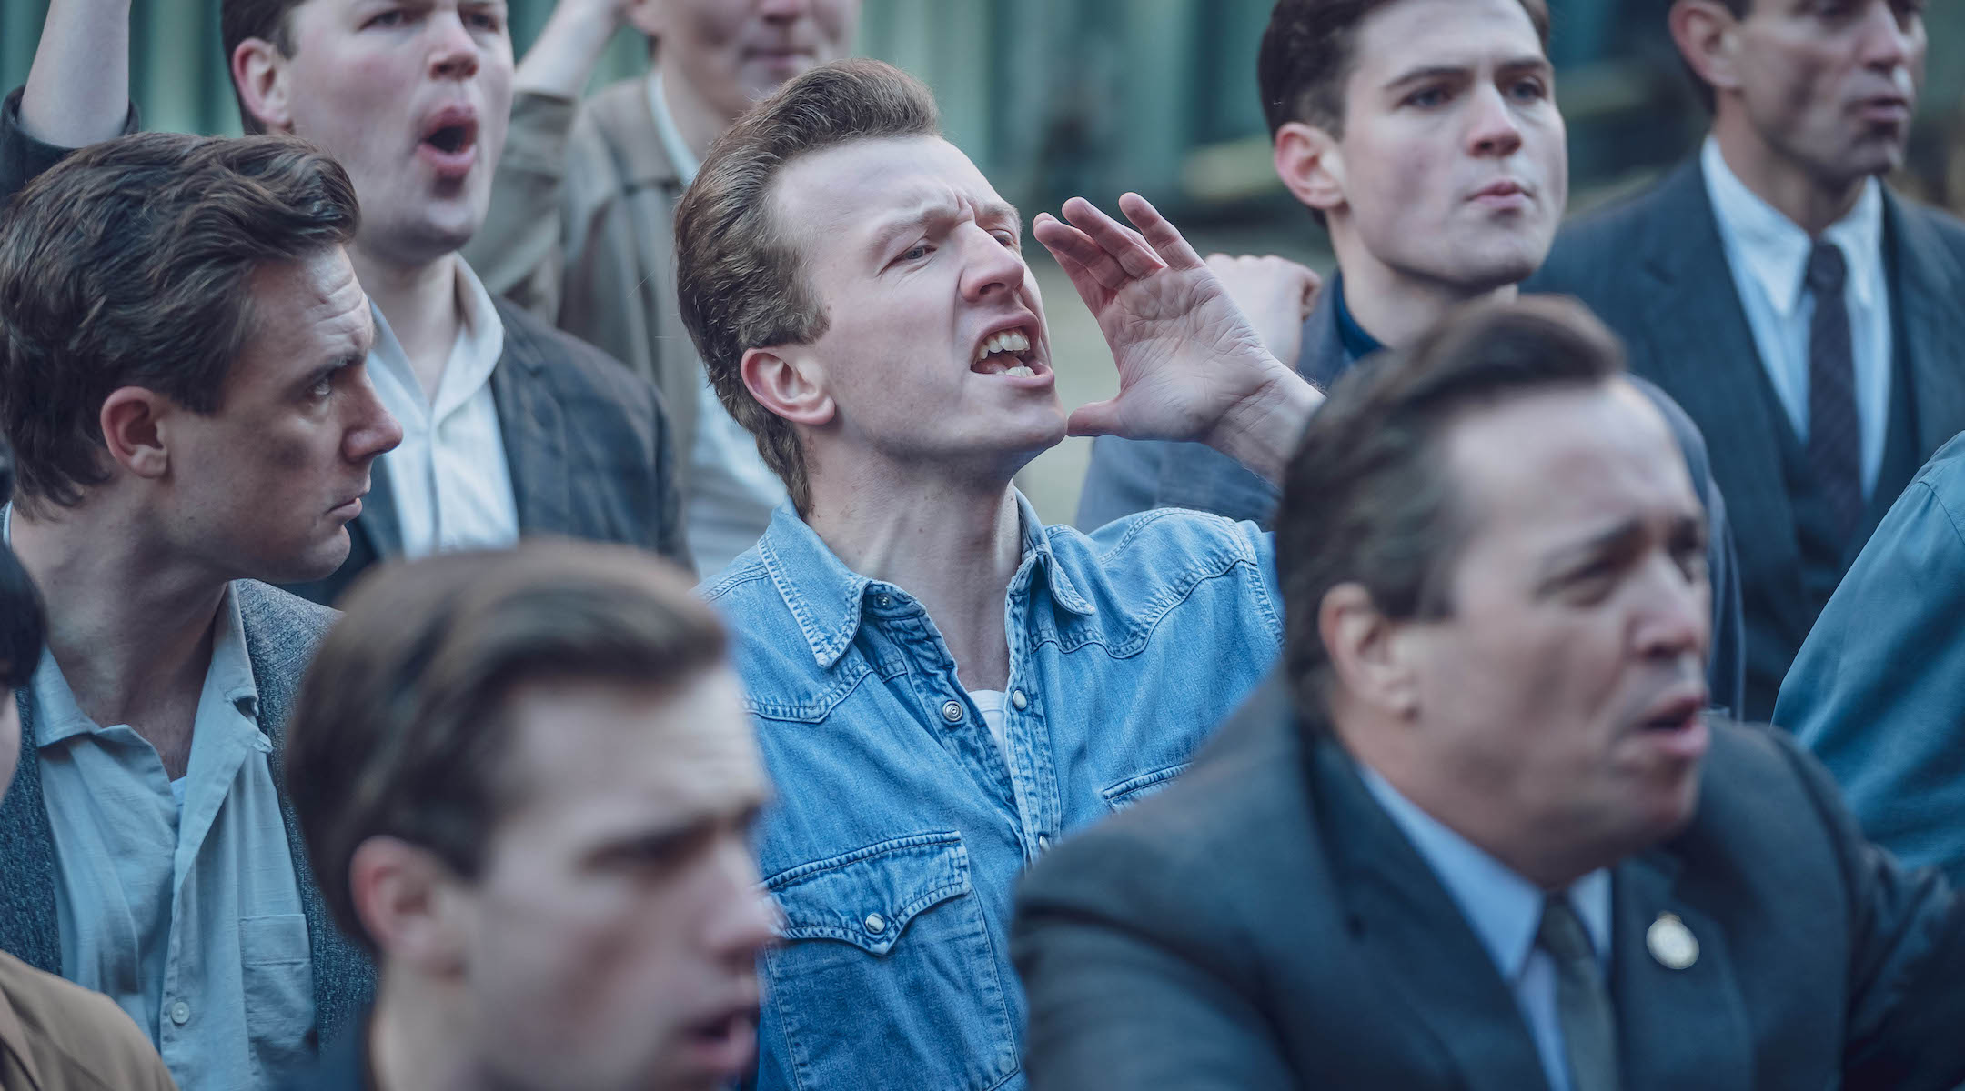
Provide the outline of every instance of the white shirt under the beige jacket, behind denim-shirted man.
{"type": "MultiPolygon", "coordinates": [[[[676,130],[662,96],[662,71],[648,73],[648,112],[662,151],[682,177],[696,179],[696,153],[676,130]]],[[[690,447],[690,494],[684,496],[684,532],[690,559],[705,581],[737,559],[770,526],[770,512],[784,502],[784,481],[757,453],[757,436],[723,408],[707,373],[696,387],[696,442],[690,447]]]]}

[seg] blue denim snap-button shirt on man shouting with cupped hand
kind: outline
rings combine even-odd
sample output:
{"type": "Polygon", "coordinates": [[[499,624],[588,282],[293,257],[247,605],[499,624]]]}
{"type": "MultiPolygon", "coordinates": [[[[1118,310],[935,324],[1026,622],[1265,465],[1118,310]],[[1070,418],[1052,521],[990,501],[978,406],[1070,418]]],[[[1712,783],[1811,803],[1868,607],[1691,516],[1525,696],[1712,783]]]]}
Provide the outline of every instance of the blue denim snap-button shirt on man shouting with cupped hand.
{"type": "Polygon", "coordinates": [[[1016,875],[1185,769],[1277,657],[1254,524],[1153,510],[1085,536],[1016,500],[1008,761],[922,604],[788,506],[703,589],[778,791],[757,834],[784,912],[758,1089],[1022,1089],[1016,875]]]}

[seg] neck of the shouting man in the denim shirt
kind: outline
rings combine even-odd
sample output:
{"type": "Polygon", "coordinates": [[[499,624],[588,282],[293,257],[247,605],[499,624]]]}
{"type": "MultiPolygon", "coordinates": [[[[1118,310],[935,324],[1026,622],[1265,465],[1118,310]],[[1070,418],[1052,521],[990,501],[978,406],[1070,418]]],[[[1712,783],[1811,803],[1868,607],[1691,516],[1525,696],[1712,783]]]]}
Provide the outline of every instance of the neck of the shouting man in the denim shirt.
{"type": "Polygon", "coordinates": [[[1002,602],[1024,557],[1010,485],[815,479],[806,524],[849,569],[922,602],[967,689],[1008,685],[1002,602]]]}

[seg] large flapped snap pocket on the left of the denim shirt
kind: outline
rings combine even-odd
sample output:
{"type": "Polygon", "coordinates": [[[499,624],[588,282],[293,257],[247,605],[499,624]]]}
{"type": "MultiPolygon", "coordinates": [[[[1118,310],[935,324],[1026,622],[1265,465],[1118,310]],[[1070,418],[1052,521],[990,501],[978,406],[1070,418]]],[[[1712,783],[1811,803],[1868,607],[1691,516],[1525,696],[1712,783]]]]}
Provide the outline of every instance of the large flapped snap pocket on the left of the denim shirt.
{"type": "Polygon", "coordinates": [[[766,1005],[796,1087],[986,1091],[1018,1071],[996,942],[961,834],[886,840],[764,885],[786,940],[764,956],[766,1005]]]}

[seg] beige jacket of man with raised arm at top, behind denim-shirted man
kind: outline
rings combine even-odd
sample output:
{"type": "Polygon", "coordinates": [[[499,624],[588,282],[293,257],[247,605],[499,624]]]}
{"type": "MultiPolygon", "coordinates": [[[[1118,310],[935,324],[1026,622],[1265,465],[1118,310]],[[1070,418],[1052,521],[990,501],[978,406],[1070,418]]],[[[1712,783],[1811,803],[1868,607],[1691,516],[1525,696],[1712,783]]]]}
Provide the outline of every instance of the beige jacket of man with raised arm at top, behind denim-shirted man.
{"type": "Polygon", "coordinates": [[[654,383],[686,496],[703,367],[676,304],[672,224],[682,188],[643,78],[584,104],[521,92],[491,212],[464,259],[493,294],[654,383]]]}

